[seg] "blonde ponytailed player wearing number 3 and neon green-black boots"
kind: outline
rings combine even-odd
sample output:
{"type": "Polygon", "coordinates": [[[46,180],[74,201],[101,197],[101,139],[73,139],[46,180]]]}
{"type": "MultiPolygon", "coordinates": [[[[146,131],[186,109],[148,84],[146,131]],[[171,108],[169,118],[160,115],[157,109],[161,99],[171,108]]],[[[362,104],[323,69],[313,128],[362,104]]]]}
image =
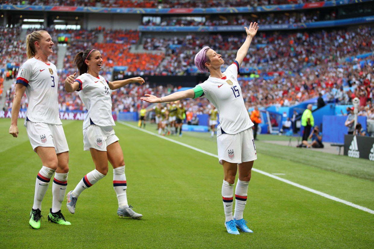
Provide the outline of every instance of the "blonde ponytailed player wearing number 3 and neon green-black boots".
{"type": "Polygon", "coordinates": [[[18,71],[9,128],[9,134],[18,137],[18,114],[22,96],[26,91],[29,104],[24,125],[31,146],[43,164],[36,177],[34,205],[29,221],[30,226],[35,229],[40,228],[42,200],[53,173],[53,200],[48,220],[71,225],[61,214],[61,203],[64,200],[69,171],[69,147],[58,112],[56,66],[48,61],[48,56],[53,54],[52,46],[53,41],[47,31],[39,30],[27,35],[28,60],[18,71]]]}

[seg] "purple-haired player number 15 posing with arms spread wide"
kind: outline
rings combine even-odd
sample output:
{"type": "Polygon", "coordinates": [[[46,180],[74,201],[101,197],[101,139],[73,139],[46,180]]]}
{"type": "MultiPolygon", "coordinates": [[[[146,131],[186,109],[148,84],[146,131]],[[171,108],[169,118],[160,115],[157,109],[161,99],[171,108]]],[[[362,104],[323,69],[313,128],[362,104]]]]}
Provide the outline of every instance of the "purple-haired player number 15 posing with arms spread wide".
{"type": "Polygon", "coordinates": [[[238,50],[235,61],[225,72],[221,72],[221,66],[224,64],[221,55],[209,47],[203,47],[195,56],[195,65],[200,72],[210,73],[208,80],[193,89],[162,98],[150,94],[140,98],[149,103],[162,103],[205,96],[217,108],[220,116],[220,124],[217,127],[218,157],[224,171],[222,197],[226,215],[225,226],[230,234],[239,234],[237,227],[243,232],[252,233],[246,225],[247,221],[243,219],[243,211],[253,161],[257,159],[257,154],[251,129],[253,123],[245,108],[237,75],[257,30],[256,22],[251,23],[249,28],[245,27],[246,40],[238,50]],[[233,189],[237,171],[239,180],[235,189],[236,203],[233,216],[233,189]]]}

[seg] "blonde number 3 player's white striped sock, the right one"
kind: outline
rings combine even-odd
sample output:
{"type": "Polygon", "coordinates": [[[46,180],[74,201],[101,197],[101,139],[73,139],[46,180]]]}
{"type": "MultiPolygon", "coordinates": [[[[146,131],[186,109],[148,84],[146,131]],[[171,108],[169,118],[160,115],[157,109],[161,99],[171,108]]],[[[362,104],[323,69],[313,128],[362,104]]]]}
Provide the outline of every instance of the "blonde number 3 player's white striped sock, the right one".
{"type": "Polygon", "coordinates": [[[52,213],[61,210],[61,204],[64,200],[66,188],[68,185],[68,174],[69,173],[55,173],[55,178],[53,178],[52,183],[52,213]]]}

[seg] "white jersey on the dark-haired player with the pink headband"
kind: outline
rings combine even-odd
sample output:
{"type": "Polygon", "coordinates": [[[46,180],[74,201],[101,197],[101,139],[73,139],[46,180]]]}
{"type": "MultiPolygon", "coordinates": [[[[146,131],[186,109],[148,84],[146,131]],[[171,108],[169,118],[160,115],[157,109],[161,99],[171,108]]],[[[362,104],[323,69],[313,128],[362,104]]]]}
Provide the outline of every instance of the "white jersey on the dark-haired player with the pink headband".
{"type": "Polygon", "coordinates": [[[79,97],[85,104],[88,112],[83,121],[83,129],[90,124],[110,126],[114,124],[112,116],[112,99],[108,81],[101,75],[93,77],[91,74],[82,74],[76,78],[79,83],[79,97]]]}

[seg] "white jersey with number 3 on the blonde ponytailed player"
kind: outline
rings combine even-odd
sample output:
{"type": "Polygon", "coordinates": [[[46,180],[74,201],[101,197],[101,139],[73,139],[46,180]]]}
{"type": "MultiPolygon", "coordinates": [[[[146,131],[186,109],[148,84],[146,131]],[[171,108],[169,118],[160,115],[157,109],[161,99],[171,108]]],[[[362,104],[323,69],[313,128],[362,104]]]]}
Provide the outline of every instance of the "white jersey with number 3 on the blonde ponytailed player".
{"type": "Polygon", "coordinates": [[[26,86],[28,106],[26,121],[61,125],[58,112],[58,75],[53,63],[34,57],[19,69],[16,84],[26,86]]]}

